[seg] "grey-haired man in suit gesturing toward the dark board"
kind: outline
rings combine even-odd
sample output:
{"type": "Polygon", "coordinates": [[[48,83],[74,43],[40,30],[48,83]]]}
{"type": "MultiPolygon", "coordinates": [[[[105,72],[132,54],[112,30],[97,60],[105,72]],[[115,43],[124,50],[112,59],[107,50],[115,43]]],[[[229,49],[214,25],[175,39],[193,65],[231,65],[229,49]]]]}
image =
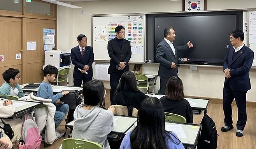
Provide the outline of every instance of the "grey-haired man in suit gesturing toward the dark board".
{"type": "Polygon", "coordinates": [[[178,63],[177,52],[188,50],[193,47],[190,41],[181,47],[173,44],[175,40],[175,31],[172,27],[167,27],[163,31],[164,39],[156,47],[156,61],[160,63],[158,75],[160,76],[160,94],[165,95],[165,86],[171,76],[177,76],[178,63]]]}

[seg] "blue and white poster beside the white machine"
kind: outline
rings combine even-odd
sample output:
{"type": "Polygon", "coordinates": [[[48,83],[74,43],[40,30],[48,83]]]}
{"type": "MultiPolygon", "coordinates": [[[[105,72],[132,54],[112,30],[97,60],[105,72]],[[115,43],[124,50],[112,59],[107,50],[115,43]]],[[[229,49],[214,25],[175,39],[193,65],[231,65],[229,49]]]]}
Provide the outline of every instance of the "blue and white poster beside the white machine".
{"type": "Polygon", "coordinates": [[[55,29],[44,28],[44,50],[55,49],[55,29]]]}

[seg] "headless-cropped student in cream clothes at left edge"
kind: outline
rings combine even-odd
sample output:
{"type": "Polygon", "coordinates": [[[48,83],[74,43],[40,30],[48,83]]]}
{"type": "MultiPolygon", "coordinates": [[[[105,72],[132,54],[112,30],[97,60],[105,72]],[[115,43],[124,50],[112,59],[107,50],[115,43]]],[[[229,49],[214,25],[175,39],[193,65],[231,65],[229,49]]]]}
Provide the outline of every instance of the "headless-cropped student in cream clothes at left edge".
{"type": "MultiPolygon", "coordinates": [[[[4,100],[4,104],[0,104],[0,118],[5,122],[11,125],[14,136],[11,138],[13,149],[16,149],[18,142],[21,138],[21,127],[23,121],[19,118],[16,119],[7,119],[12,116],[15,112],[15,107],[12,105],[11,100],[4,100]]],[[[0,126],[4,128],[4,124],[0,120],[0,126]]],[[[2,131],[4,132],[4,131],[2,131]]],[[[8,137],[8,136],[7,136],[8,137]]],[[[1,149],[1,147],[0,147],[1,149]]]]}

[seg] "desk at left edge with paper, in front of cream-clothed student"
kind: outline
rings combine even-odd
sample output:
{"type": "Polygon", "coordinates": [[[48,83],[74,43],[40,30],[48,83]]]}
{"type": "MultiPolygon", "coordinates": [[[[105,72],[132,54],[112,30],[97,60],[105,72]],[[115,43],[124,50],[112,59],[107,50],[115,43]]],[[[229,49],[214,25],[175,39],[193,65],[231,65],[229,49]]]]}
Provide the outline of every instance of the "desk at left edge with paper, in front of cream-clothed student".
{"type": "MultiPolygon", "coordinates": [[[[2,102],[4,102],[4,100],[5,99],[0,99],[1,104],[2,102]]],[[[16,111],[10,118],[15,119],[25,114],[31,113],[33,121],[35,121],[34,107],[39,106],[40,104],[42,104],[42,102],[21,101],[21,100],[11,100],[11,101],[17,107],[15,107],[16,111]]]]}

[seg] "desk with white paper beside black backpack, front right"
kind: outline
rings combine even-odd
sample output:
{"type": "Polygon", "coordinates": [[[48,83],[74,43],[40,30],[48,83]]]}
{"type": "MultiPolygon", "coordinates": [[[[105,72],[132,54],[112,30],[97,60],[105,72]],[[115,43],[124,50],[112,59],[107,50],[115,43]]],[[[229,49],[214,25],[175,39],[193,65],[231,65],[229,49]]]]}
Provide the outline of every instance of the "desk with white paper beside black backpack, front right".
{"type": "MultiPolygon", "coordinates": [[[[181,140],[183,146],[188,147],[196,147],[196,141],[200,135],[201,131],[201,125],[197,124],[189,124],[189,123],[172,123],[172,122],[165,122],[165,127],[168,127],[168,125],[181,125],[182,129],[184,130],[184,133],[186,134],[186,138],[180,138],[179,136],[181,134],[175,133],[177,137],[181,140]]],[[[126,133],[132,131],[135,128],[135,125],[133,125],[126,133]]],[[[126,134],[125,133],[125,134],[126,134]]]]}

